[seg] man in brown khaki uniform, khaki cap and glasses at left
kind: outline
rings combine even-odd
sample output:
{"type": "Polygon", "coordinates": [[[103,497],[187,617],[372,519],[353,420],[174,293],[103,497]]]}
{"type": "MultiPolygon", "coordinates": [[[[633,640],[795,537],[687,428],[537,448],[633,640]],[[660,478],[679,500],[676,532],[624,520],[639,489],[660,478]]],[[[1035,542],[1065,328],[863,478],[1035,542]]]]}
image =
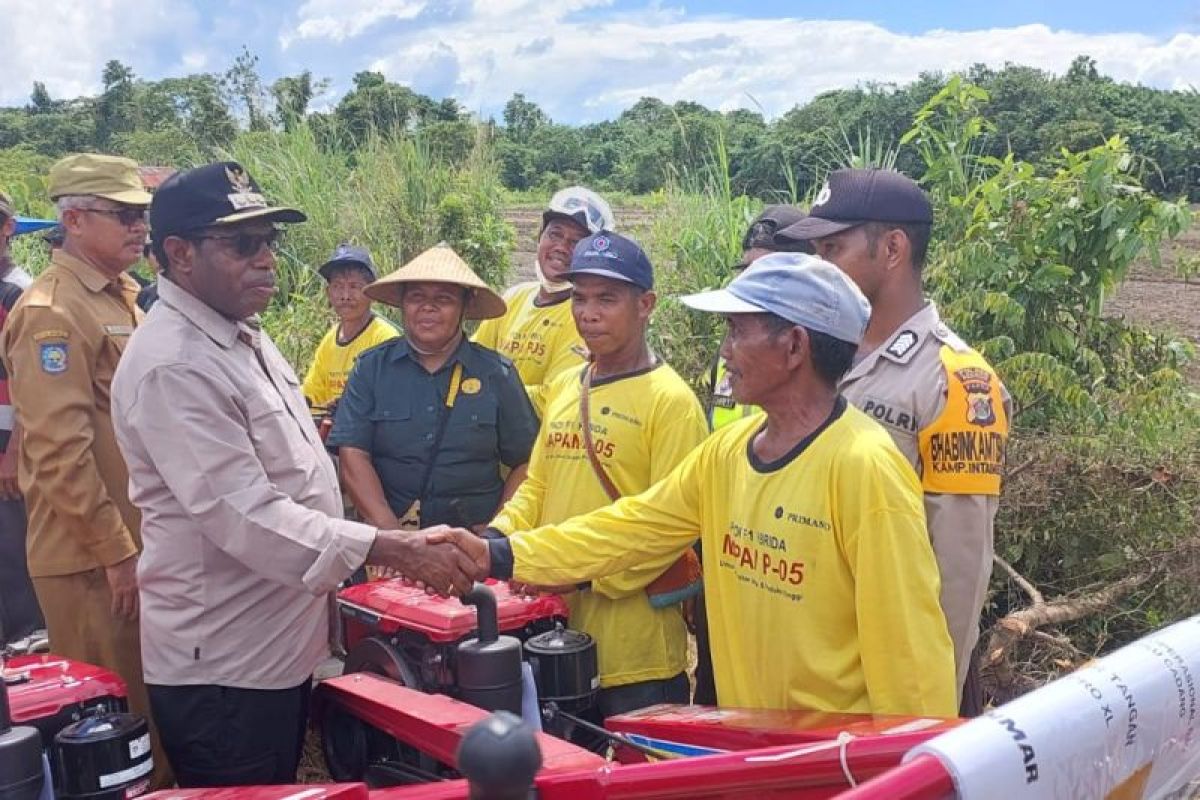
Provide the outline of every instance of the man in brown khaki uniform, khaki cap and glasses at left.
{"type": "MultiPolygon", "coordinates": [[[[139,517],[109,416],[118,360],[142,319],[138,284],[150,194],[137,164],[68,156],[50,168],[66,239],[8,317],[0,343],[24,428],[18,480],[29,572],[58,655],[120,674],[150,716],[138,644],[139,517]]],[[[169,778],[157,760],[155,783],[169,778]]]]}

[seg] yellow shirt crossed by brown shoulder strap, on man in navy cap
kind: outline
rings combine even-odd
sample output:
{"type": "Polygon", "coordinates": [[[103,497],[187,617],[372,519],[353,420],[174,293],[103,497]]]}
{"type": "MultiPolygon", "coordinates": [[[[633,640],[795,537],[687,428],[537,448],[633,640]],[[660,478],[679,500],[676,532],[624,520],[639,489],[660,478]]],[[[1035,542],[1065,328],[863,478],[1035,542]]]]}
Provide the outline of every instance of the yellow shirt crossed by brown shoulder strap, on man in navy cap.
{"type": "MultiPolygon", "coordinates": [[[[492,528],[511,534],[608,504],[583,443],[581,379],[582,369],[570,369],[547,387],[529,474],[492,528]]],[[[623,495],[665,477],[708,432],[696,396],[666,365],[595,380],[590,407],[596,455],[623,495]]],[[[679,606],[653,608],[644,591],[668,564],[626,570],[566,596],[571,627],[596,640],[601,686],[672,678],[686,668],[688,632],[679,606]]]]}

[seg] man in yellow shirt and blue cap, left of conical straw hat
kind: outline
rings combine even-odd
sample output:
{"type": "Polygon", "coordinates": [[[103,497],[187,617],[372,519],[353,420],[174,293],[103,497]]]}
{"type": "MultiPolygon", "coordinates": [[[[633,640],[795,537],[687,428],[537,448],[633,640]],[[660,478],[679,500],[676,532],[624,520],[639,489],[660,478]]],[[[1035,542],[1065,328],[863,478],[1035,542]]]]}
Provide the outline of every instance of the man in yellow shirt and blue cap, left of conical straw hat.
{"type": "Polygon", "coordinates": [[[377,277],[371,254],[361,247],[338,245],[319,270],[325,296],[337,323],[320,339],[304,379],[304,396],[314,414],[332,414],[359,354],[400,336],[395,325],[371,311],[362,294],[377,277]]]}

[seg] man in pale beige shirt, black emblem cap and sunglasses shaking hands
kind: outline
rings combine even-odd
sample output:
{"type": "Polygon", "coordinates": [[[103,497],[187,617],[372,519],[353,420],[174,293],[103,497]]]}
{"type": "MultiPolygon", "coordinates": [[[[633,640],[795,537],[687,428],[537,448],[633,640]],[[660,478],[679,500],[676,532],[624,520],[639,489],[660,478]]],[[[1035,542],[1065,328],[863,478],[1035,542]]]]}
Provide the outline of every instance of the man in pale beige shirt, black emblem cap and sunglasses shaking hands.
{"type": "Polygon", "coordinates": [[[300,381],[258,327],[275,223],[304,218],[233,162],[168,179],[150,207],[160,302],[113,383],[143,515],[145,679],[184,787],[295,778],[330,593],[364,563],[472,585],[450,545],[342,518],[300,381]]]}

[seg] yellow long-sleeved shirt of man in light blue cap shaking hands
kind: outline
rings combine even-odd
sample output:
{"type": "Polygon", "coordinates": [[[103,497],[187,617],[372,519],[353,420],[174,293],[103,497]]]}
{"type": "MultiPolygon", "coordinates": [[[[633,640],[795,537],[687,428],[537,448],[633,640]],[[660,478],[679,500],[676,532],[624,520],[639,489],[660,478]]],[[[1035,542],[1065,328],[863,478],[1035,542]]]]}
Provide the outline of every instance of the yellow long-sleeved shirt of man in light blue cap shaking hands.
{"type": "Polygon", "coordinates": [[[700,536],[722,705],[953,716],[954,652],[912,468],[842,402],[769,464],[751,449],[763,421],[721,428],[642,494],[515,534],[514,577],[611,575],[700,536]]]}

